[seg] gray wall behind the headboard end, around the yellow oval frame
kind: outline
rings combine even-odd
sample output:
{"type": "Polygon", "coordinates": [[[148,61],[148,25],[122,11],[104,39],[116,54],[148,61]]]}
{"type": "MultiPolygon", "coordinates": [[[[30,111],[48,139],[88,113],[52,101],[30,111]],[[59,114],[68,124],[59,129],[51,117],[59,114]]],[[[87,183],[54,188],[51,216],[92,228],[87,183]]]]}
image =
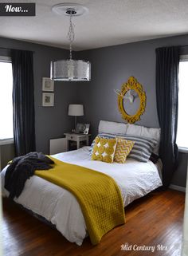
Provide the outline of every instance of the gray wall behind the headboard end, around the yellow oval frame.
{"type": "MultiPolygon", "coordinates": [[[[155,49],[170,45],[187,45],[188,35],[139,41],[77,53],[92,62],[92,81],[79,86],[79,99],[84,104],[83,122],[91,124],[92,136],[97,134],[100,120],[123,122],[113,89],[120,89],[127,78],[134,76],[147,94],[146,111],[136,124],[158,128],[155,95],[155,49]]],[[[186,48],[182,53],[186,53],[186,48]]],[[[188,53],[188,52],[187,52],[188,53]]],[[[179,168],[173,183],[186,186],[186,154],[180,154],[179,168]]]]}

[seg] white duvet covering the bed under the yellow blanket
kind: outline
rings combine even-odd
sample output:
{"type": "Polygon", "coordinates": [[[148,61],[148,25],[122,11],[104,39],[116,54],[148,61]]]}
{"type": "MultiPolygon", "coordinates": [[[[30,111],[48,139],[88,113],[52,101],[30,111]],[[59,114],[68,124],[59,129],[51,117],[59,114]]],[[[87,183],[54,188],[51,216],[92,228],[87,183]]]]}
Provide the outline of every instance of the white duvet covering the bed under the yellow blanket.
{"type": "MultiPolygon", "coordinates": [[[[60,153],[53,157],[112,176],[122,193],[124,206],[162,186],[159,167],[151,161],[147,163],[135,160],[127,160],[127,163],[92,161],[89,147],[60,153]]],[[[3,186],[5,172],[6,168],[1,172],[2,195],[8,196],[9,192],[3,186]]],[[[34,175],[26,181],[22,194],[14,201],[55,224],[57,230],[70,242],[82,244],[87,234],[84,217],[75,197],[69,191],[34,175]]]]}

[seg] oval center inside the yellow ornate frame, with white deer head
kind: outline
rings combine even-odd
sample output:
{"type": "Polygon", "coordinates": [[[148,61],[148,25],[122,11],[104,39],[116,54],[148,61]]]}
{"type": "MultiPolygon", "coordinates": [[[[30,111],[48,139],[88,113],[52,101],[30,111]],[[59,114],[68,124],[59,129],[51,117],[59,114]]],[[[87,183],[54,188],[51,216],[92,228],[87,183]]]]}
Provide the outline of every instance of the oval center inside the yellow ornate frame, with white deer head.
{"type": "Polygon", "coordinates": [[[123,108],[125,112],[127,112],[127,115],[134,116],[136,112],[139,110],[139,94],[135,92],[135,90],[129,90],[127,93],[125,93],[125,96],[123,97],[123,108]],[[133,102],[131,103],[131,96],[133,96],[133,102]]]}

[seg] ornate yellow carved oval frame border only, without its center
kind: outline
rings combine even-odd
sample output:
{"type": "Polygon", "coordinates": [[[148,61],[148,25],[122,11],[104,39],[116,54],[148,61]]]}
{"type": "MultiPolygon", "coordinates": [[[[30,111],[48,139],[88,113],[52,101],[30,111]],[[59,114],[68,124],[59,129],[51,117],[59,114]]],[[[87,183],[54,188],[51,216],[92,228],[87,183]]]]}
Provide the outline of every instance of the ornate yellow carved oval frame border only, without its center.
{"type": "Polygon", "coordinates": [[[146,93],[143,91],[143,86],[135,79],[135,77],[129,77],[127,83],[121,85],[121,93],[118,95],[118,108],[122,115],[122,118],[127,120],[129,124],[134,124],[140,120],[140,116],[143,115],[146,108],[146,93]],[[139,95],[139,108],[135,115],[128,115],[123,106],[123,97],[129,90],[134,90],[139,95]]]}

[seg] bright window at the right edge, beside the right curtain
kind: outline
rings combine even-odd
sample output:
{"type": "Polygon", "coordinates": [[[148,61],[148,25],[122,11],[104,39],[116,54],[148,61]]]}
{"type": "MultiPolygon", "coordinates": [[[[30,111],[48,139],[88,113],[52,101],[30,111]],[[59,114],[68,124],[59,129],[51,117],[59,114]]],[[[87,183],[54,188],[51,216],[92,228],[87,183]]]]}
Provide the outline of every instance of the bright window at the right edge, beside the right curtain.
{"type": "Polygon", "coordinates": [[[179,148],[188,149],[188,55],[183,55],[179,63],[179,92],[178,92],[178,132],[179,148]]]}

